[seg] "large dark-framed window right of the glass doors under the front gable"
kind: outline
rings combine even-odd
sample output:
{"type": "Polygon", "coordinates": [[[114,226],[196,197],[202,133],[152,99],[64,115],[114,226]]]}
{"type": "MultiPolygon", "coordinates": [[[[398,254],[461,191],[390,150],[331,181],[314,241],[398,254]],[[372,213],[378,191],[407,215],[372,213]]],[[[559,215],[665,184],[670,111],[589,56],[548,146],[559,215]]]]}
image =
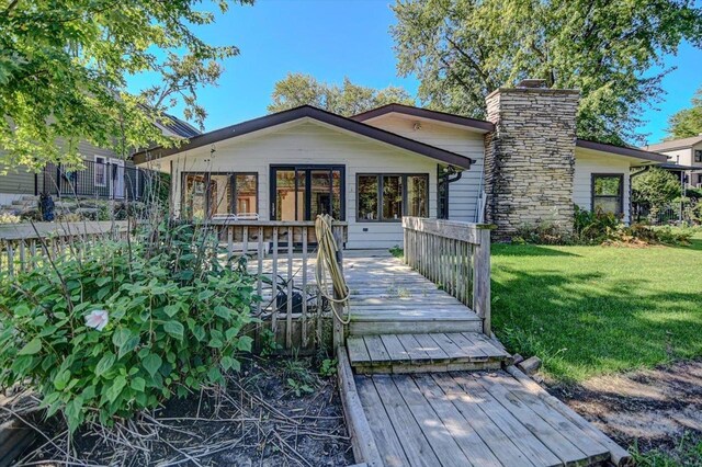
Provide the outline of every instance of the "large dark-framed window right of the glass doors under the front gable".
{"type": "Polygon", "coordinates": [[[428,174],[359,174],[356,192],[356,220],[360,223],[429,216],[428,174]]]}

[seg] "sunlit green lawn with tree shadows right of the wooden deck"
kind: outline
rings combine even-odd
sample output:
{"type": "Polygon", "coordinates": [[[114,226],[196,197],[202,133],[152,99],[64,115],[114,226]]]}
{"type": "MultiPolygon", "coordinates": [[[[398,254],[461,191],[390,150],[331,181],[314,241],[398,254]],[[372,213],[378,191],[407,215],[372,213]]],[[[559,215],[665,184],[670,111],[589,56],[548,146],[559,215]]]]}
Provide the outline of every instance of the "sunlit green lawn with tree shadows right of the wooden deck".
{"type": "Polygon", "coordinates": [[[492,320],[564,381],[702,356],[702,235],[681,248],[495,244],[492,320]]]}

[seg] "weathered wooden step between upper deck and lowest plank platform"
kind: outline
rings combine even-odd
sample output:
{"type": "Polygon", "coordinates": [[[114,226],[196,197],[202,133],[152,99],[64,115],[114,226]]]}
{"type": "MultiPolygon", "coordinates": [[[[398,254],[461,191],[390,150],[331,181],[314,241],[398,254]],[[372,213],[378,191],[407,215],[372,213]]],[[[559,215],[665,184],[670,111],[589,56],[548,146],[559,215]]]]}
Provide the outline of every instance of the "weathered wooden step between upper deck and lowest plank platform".
{"type": "Polygon", "coordinates": [[[350,335],[347,349],[359,374],[499,369],[512,362],[482,332],[350,335]]]}

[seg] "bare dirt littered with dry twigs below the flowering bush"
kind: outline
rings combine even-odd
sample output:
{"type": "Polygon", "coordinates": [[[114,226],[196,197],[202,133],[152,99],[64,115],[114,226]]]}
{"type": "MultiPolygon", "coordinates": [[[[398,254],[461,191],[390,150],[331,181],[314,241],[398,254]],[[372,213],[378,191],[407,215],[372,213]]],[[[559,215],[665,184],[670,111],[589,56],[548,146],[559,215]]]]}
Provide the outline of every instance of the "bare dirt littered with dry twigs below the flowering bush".
{"type": "Polygon", "coordinates": [[[338,466],[353,464],[336,378],[310,358],[253,360],[226,391],[173,399],[113,429],[89,426],[68,447],[54,419],[22,464],[338,466]]]}

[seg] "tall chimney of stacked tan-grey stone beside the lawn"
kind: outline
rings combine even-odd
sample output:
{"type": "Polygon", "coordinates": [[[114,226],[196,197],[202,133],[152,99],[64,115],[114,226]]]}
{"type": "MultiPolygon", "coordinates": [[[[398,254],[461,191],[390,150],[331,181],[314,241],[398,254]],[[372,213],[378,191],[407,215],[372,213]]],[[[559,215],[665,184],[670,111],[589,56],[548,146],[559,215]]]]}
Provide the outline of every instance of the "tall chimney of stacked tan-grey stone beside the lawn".
{"type": "Polygon", "coordinates": [[[498,239],[539,224],[573,229],[578,101],[578,91],[546,88],[487,96],[495,132],[485,139],[486,221],[498,239]]]}

